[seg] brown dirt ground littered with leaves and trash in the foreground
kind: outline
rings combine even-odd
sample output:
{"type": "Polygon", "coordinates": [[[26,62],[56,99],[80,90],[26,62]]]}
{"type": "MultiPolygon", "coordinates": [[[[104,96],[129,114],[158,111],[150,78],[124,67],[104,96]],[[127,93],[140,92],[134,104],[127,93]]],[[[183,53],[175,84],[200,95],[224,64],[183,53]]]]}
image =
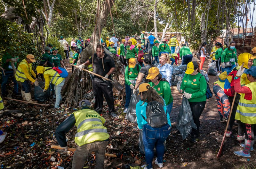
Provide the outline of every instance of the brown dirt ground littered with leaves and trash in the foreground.
{"type": "MultiPolygon", "coordinates": [[[[68,65],[68,60],[65,60],[68,65]]],[[[208,64],[204,64],[207,70],[208,64]]],[[[67,67],[71,73],[71,67],[67,67]]],[[[217,76],[209,75],[210,87],[218,80],[217,76]]],[[[68,80],[66,80],[67,82],[68,80]]],[[[11,87],[11,86],[10,86],[11,87]]],[[[200,117],[200,137],[197,143],[191,143],[190,138],[182,140],[175,134],[176,120],[181,104],[181,94],[176,86],[172,87],[173,108],[171,113],[172,131],[167,138],[164,154],[163,169],[171,168],[255,168],[256,155],[251,152],[251,158],[235,156],[233,151],[241,150],[241,142],[236,141],[237,127],[232,129],[232,137],[226,138],[220,158],[216,158],[219,151],[226,123],[220,123],[217,112],[217,101],[213,97],[206,102],[205,109],[200,117]]],[[[21,99],[21,98],[20,98],[21,99]]],[[[1,168],[71,168],[73,152],[61,154],[51,145],[58,145],[54,131],[57,126],[76,108],[52,110],[43,106],[28,105],[4,101],[8,109],[19,109],[23,115],[18,117],[8,112],[0,114],[0,129],[7,132],[5,141],[0,144],[1,168]]],[[[53,104],[50,99],[47,104],[53,104]]],[[[107,113],[104,102],[103,117],[105,126],[110,135],[107,153],[116,154],[117,158],[105,158],[104,168],[127,169],[131,166],[145,164],[145,156],[139,152],[139,132],[132,130],[136,124],[126,120],[121,101],[116,100],[118,118],[113,119],[107,113]]],[[[17,115],[17,114],[16,114],[17,115]]],[[[68,146],[76,148],[74,136],[76,127],[67,133],[68,146]]],[[[94,168],[93,155],[86,162],[85,168],[94,168]]],[[[153,168],[158,168],[153,165],[153,168]]]]}

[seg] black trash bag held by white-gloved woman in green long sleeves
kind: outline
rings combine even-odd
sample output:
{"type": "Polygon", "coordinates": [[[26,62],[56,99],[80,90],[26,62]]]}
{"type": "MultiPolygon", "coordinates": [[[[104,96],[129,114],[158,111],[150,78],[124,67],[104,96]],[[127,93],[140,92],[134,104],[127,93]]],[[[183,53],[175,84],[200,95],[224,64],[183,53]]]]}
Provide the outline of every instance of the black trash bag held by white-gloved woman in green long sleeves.
{"type": "Polygon", "coordinates": [[[193,120],[188,99],[183,97],[180,106],[180,112],[177,117],[176,129],[180,131],[182,139],[184,140],[188,137],[188,134],[190,133],[192,128],[196,129],[196,124],[193,120]]]}

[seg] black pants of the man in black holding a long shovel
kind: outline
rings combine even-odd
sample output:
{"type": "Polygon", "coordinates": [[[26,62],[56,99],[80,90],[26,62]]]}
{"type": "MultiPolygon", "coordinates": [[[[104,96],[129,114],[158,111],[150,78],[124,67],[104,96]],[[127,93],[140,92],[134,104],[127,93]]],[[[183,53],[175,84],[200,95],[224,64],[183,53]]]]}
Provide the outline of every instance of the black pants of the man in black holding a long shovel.
{"type": "Polygon", "coordinates": [[[98,113],[102,113],[103,107],[103,95],[108,103],[108,112],[114,113],[115,112],[115,105],[114,105],[114,96],[112,90],[112,84],[109,81],[105,82],[98,82],[94,79],[92,80],[92,89],[94,93],[94,110],[98,113]]]}

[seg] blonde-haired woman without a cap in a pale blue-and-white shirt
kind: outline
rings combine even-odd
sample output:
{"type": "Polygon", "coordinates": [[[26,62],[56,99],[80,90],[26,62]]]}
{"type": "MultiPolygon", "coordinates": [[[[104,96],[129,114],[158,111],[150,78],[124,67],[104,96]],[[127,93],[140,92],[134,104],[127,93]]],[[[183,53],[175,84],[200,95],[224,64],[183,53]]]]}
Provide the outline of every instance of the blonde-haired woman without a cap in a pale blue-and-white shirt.
{"type": "Polygon", "coordinates": [[[162,75],[163,78],[166,79],[166,81],[171,86],[173,67],[170,64],[171,61],[169,54],[162,53],[159,58],[159,63],[160,64],[157,66],[157,68],[159,69],[160,74],[162,75]]]}

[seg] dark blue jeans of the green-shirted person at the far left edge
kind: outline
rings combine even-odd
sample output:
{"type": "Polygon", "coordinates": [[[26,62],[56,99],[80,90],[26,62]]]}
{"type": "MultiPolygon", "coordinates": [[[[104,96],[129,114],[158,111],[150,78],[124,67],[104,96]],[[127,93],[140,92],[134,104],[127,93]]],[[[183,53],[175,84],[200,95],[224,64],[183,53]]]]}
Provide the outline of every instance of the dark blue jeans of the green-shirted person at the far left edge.
{"type": "Polygon", "coordinates": [[[5,70],[4,72],[2,71],[2,85],[1,85],[1,87],[2,87],[2,95],[3,96],[6,95],[6,85],[8,83],[9,77],[12,78],[12,81],[13,81],[13,84],[14,84],[14,89],[13,89],[14,94],[19,93],[19,91],[18,91],[19,85],[18,85],[18,82],[16,81],[15,77],[13,76],[13,71],[5,70]]]}

